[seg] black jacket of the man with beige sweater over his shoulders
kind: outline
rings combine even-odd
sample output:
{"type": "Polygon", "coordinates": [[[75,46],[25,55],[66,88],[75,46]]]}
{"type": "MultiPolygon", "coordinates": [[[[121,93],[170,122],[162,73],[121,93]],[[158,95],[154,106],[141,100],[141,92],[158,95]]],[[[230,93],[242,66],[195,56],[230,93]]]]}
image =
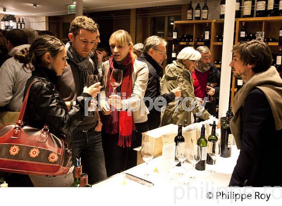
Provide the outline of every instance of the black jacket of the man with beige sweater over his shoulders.
{"type": "Polygon", "coordinates": [[[282,186],[280,139],[265,94],[258,88],[246,97],[241,113],[241,151],[229,186],[282,186]]]}

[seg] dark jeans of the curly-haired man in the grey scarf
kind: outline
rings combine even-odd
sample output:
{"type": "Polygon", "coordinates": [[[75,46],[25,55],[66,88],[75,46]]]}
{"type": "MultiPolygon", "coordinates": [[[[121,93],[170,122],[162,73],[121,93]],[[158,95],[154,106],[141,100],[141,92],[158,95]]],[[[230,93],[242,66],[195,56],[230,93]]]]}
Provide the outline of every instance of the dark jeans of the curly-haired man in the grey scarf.
{"type": "Polygon", "coordinates": [[[94,184],[107,178],[101,132],[94,129],[74,131],[73,163],[81,157],[82,172],[88,174],[88,182],[94,184]]]}

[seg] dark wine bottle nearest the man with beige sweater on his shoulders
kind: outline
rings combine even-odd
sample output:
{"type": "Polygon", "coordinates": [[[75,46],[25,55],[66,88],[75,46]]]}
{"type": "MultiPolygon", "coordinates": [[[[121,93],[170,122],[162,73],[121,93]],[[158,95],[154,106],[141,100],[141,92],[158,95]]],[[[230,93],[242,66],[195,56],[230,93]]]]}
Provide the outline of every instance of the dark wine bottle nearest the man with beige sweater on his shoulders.
{"type": "Polygon", "coordinates": [[[221,156],[231,157],[233,135],[229,126],[229,113],[226,113],[226,120],[221,127],[221,156]]]}

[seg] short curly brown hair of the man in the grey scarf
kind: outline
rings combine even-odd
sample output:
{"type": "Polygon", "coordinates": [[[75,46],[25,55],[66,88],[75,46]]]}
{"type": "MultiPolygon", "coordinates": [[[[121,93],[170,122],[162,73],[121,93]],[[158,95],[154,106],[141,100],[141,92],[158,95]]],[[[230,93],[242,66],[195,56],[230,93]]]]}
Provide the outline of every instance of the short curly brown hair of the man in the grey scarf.
{"type": "Polygon", "coordinates": [[[70,24],[69,33],[73,33],[74,36],[77,36],[81,29],[85,29],[89,32],[97,32],[99,26],[93,19],[79,16],[72,21],[72,24],[70,24]]]}

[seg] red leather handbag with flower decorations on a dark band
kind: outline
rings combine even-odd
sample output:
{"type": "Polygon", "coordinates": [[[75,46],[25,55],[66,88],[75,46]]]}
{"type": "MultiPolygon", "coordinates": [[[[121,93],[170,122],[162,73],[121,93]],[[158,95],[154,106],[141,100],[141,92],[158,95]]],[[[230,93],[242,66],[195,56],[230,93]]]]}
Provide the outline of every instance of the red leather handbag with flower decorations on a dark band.
{"type": "MultiPolygon", "coordinates": [[[[40,80],[38,80],[40,81],[40,80]]],[[[63,175],[72,164],[65,137],[23,123],[30,84],[16,124],[0,128],[0,171],[31,175],[63,175]]]]}

